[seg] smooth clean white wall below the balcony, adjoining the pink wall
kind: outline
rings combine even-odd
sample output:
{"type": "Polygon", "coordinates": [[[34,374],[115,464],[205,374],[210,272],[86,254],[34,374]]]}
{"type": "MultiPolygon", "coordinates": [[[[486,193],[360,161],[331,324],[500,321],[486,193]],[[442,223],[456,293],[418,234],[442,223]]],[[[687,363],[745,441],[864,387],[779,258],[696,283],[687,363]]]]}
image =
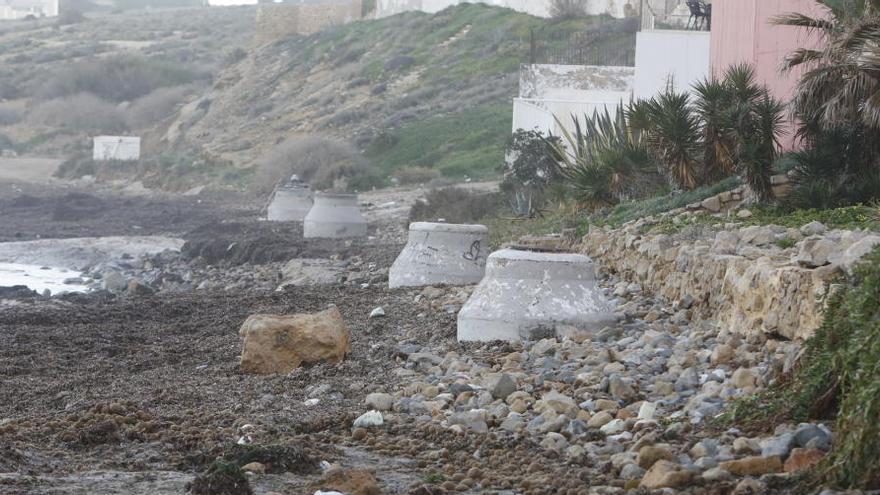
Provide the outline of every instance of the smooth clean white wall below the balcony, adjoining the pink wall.
{"type": "Polygon", "coordinates": [[[709,75],[711,33],[651,30],[636,37],[636,98],[651,98],[672,82],[689,90],[709,75]]]}

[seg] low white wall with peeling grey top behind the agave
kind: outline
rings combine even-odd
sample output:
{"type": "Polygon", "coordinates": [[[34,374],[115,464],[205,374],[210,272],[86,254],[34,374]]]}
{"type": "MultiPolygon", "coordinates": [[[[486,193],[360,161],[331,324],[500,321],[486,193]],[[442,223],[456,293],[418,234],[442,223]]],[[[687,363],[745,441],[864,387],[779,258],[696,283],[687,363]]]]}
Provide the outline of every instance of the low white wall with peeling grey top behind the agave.
{"type": "Polygon", "coordinates": [[[633,94],[635,69],[591,65],[523,65],[520,96],[513,100],[513,131],[560,135],[596,111],[613,115],[633,94]],[[557,121],[558,119],[558,121],[557,121]],[[560,126],[560,122],[562,125],[560,126]]]}

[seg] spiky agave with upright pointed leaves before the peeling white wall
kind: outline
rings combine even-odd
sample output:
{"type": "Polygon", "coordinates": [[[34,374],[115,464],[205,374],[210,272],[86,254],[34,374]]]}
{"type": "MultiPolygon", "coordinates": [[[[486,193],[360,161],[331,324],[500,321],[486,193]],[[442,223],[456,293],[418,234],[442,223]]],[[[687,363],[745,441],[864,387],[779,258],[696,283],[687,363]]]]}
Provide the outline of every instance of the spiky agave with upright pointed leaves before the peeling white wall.
{"type": "Polygon", "coordinates": [[[608,109],[574,119],[574,132],[559,122],[562,140],[553,146],[561,172],[585,206],[599,208],[644,196],[657,187],[656,162],[638,133],[631,131],[621,104],[615,114],[608,109]]]}

